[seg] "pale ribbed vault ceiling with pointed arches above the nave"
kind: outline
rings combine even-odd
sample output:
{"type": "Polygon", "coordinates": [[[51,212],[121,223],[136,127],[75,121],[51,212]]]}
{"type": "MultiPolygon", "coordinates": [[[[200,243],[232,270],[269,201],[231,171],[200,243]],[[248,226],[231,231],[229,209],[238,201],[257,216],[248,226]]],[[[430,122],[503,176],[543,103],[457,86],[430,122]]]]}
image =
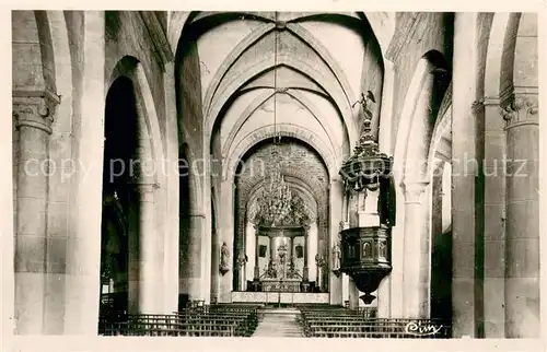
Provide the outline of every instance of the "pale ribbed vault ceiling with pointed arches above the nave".
{"type": "MultiPolygon", "coordinates": [[[[386,48],[379,39],[393,33],[392,17],[193,12],[170,13],[168,21],[171,33],[184,27],[196,43],[205,139],[226,177],[254,144],[275,133],[315,149],[328,178],[338,173],[361,131],[354,103],[366,91],[381,102],[386,48]],[[382,28],[379,37],[371,24],[382,28]]],[[[380,108],[372,107],[375,119],[380,108]]]]}

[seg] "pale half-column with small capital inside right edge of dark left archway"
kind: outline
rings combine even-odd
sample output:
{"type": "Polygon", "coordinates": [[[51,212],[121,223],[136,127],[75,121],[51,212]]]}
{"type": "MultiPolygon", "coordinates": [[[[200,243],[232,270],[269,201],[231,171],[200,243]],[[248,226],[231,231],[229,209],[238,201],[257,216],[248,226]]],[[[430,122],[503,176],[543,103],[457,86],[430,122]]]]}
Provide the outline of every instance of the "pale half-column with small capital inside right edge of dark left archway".
{"type": "Polygon", "coordinates": [[[160,314],[162,300],[162,248],[154,220],[154,184],[138,185],[139,197],[139,313],[160,314]]]}

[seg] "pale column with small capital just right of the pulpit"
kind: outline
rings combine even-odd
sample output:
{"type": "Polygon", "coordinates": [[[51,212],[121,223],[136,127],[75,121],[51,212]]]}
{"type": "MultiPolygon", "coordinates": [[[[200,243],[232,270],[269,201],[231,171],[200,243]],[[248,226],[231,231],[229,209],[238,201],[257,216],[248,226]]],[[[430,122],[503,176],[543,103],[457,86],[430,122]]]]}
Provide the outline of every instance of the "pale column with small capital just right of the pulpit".
{"type": "Polygon", "coordinates": [[[428,282],[423,282],[421,268],[427,265],[424,256],[429,254],[422,248],[422,242],[428,236],[424,221],[426,181],[406,183],[405,189],[405,239],[404,239],[404,273],[403,302],[406,318],[427,318],[429,296],[426,297],[428,282]],[[427,300],[427,301],[426,301],[427,300]]]}

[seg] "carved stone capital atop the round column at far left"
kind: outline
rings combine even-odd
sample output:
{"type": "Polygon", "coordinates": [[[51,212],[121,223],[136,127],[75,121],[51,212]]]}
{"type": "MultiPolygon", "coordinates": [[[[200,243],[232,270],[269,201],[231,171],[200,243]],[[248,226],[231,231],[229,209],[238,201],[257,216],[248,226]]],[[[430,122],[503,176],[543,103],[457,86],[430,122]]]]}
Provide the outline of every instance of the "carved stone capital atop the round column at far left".
{"type": "Polygon", "coordinates": [[[15,127],[33,127],[51,133],[55,109],[60,97],[49,91],[13,91],[15,127]]]}

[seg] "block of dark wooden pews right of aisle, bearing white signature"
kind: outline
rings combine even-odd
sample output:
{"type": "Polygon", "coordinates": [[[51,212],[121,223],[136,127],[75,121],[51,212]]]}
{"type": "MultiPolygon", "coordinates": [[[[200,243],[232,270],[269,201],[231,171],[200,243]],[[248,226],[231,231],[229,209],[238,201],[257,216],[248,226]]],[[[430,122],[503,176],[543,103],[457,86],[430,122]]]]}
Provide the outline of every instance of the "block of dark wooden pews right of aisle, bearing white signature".
{"type": "Polygon", "coordinates": [[[341,306],[302,305],[300,324],[310,338],[443,339],[450,324],[434,319],[376,318],[366,310],[341,306]]]}

